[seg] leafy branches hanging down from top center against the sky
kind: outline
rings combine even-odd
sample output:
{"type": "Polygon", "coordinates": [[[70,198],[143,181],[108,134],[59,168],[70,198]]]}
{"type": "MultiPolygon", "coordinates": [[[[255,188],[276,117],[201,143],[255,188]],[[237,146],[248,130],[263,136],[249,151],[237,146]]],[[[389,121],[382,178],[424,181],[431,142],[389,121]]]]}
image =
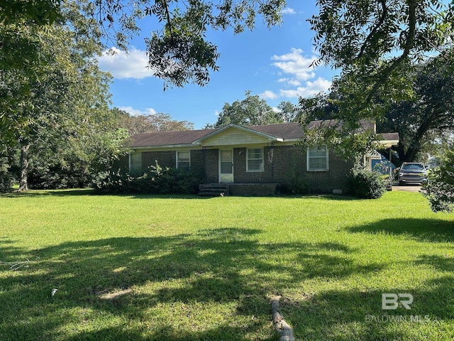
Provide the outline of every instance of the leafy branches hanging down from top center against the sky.
{"type": "Polygon", "coordinates": [[[206,85],[217,71],[219,53],[206,38],[210,29],[253,29],[256,16],[267,26],[280,23],[284,0],[97,0],[92,11],[105,36],[126,50],[128,40],[140,31],[140,19],[154,25],[145,38],[150,70],[164,80],[164,88],[188,82],[206,85]]]}

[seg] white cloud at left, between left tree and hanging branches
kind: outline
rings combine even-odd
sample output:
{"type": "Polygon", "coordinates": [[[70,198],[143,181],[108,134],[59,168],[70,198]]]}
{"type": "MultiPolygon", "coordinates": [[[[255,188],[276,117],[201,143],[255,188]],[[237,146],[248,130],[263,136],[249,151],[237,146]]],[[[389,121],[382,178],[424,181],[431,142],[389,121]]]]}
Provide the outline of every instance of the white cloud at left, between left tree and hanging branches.
{"type": "Polygon", "coordinates": [[[140,80],[146,77],[153,77],[153,71],[148,68],[148,57],[144,50],[131,48],[128,53],[113,48],[114,54],[104,51],[98,58],[99,68],[109,71],[118,79],[133,78],[140,80]]]}

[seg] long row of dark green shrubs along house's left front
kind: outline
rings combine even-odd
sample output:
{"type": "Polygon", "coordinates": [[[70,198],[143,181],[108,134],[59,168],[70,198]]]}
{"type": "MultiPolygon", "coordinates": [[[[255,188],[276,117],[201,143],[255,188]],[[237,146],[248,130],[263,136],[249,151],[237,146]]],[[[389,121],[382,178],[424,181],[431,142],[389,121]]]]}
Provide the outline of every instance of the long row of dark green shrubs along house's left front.
{"type": "Polygon", "coordinates": [[[194,171],[156,165],[141,173],[120,170],[100,173],[93,187],[100,193],[196,194],[202,181],[194,171]]]}

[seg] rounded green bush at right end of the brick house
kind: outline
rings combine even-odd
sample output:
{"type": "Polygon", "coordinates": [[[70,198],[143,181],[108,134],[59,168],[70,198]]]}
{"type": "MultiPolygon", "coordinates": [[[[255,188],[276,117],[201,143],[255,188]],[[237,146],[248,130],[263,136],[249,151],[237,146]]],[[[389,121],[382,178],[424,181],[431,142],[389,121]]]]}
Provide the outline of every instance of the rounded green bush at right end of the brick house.
{"type": "Polygon", "coordinates": [[[363,199],[377,199],[386,191],[380,173],[360,167],[352,169],[351,183],[353,194],[363,199]]]}

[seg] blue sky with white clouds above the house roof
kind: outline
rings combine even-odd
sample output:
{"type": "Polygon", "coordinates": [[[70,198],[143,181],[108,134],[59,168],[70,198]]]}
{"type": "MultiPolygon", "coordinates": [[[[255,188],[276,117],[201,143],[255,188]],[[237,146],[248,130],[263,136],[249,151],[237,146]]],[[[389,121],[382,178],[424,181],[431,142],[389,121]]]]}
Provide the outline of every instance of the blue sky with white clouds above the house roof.
{"type": "Polygon", "coordinates": [[[253,31],[236,36],[231,31],[210,32],[218,46],[218,72],[209,85],[186,85],[163,91],[163,82],[148,70],[143,38],[155,30],[144,22],[140,37],[134,38],[129,54],[99,58],[101,70],[114,76],[112,106],[133,115],[164,112],[172,119],[187,120],[201,129],[214,123],[225,103],[245,98],[250,90],[272,107],[282,101],[297,104],[299,96],[309,97],[328,90],[334,75],[330,67],[310,68],[316,58],[314,32],[306,19],[316,13],[315,1],[289,0],[283,23],[268,29],[258,18],[253,31]]]}

